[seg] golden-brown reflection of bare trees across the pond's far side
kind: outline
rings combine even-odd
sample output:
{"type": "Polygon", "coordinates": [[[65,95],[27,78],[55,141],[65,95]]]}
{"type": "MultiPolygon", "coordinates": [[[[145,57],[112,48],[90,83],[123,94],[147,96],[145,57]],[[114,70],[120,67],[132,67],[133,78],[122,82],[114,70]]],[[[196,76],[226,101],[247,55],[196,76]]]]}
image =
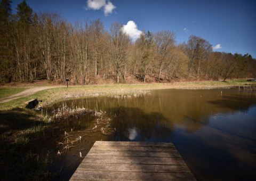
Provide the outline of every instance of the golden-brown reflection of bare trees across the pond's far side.
{"type": "Polygon", "coordinates": [[[165,126],[172,128],[173,124],[182,125],[188,131],[196,131],[208,125],[212,115],[246,111],[255,104],[255,93],[236,90],[160,90],[137,98],[94,97],[69,101],[67,104],[108,113],[118,114],[121,111],[123,115],[119,114],[119,119],[127,116],[138,118],[141,113],[135,113],[135,109],[140,109],[145,115],[161,113],[167,120],[165,126]],[[125,110],[127,108],[135,109],[128,111],[125,110]]]}

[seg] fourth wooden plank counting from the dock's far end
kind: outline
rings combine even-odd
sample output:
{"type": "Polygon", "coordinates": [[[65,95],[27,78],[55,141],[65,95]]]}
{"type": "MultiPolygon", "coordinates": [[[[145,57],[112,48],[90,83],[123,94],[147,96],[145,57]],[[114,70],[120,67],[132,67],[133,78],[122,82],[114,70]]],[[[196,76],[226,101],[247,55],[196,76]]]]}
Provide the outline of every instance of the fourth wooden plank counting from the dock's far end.
{"type": "Polygon", "coordinates": [[[182,158],[164,158],[164,157],[104,157],[104,156],[86,156],[81,164],[84,163],[117,163],[117,164],[174,164],[186,163],[182,158]]]}

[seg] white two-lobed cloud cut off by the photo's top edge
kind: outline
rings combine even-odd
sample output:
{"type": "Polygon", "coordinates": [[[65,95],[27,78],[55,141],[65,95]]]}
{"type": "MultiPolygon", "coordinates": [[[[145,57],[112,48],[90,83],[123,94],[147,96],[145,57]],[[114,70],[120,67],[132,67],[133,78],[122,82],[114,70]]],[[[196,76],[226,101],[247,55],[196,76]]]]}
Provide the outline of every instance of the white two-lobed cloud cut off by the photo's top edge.
{"type": "Polygon", "coordinates": [[[85,10],[100,10],[103,7],[104,14],[107,16],[113,12],[116,8],[113,3],[106,0],[87,0],[87,6],[84,7],[85,10]]]}

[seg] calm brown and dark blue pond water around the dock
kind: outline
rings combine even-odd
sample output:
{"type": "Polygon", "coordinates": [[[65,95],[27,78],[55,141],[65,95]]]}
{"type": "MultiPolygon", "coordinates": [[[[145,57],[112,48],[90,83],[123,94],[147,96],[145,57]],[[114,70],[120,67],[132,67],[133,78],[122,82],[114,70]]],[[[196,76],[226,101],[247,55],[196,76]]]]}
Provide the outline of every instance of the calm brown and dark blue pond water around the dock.
{"type": "MultiPolygon", "coordinates": [[[[145,95],[70,100],[54,108],[63,104],[106,111],[115,129],[108,136],[100,132],[88,136],[78,149],[89,151],[97,140],[172,142],[198,180],[255,179],[255,92],[164,89],[145,95]]],[[[89,115],[74,117],[63,130],[92,128],[95,119],[89,115]]],[[[70,178],[81,162],[75,154],[77,151],[65,153],[52,169],[76,161],[64,171],[65,178],[70,178]]]]}

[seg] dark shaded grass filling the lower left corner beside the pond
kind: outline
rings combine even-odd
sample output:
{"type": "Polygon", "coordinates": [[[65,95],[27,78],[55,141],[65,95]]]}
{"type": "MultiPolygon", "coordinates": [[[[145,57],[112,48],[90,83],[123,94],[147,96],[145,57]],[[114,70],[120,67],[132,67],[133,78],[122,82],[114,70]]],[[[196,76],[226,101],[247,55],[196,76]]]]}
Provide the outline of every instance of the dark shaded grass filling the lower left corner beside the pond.
{"type": "Polygon", "coordinates": [[[33,110],[0,111],[1,180],[49,180],[47,161],[35,153],[45,122],[33,110]]]}

